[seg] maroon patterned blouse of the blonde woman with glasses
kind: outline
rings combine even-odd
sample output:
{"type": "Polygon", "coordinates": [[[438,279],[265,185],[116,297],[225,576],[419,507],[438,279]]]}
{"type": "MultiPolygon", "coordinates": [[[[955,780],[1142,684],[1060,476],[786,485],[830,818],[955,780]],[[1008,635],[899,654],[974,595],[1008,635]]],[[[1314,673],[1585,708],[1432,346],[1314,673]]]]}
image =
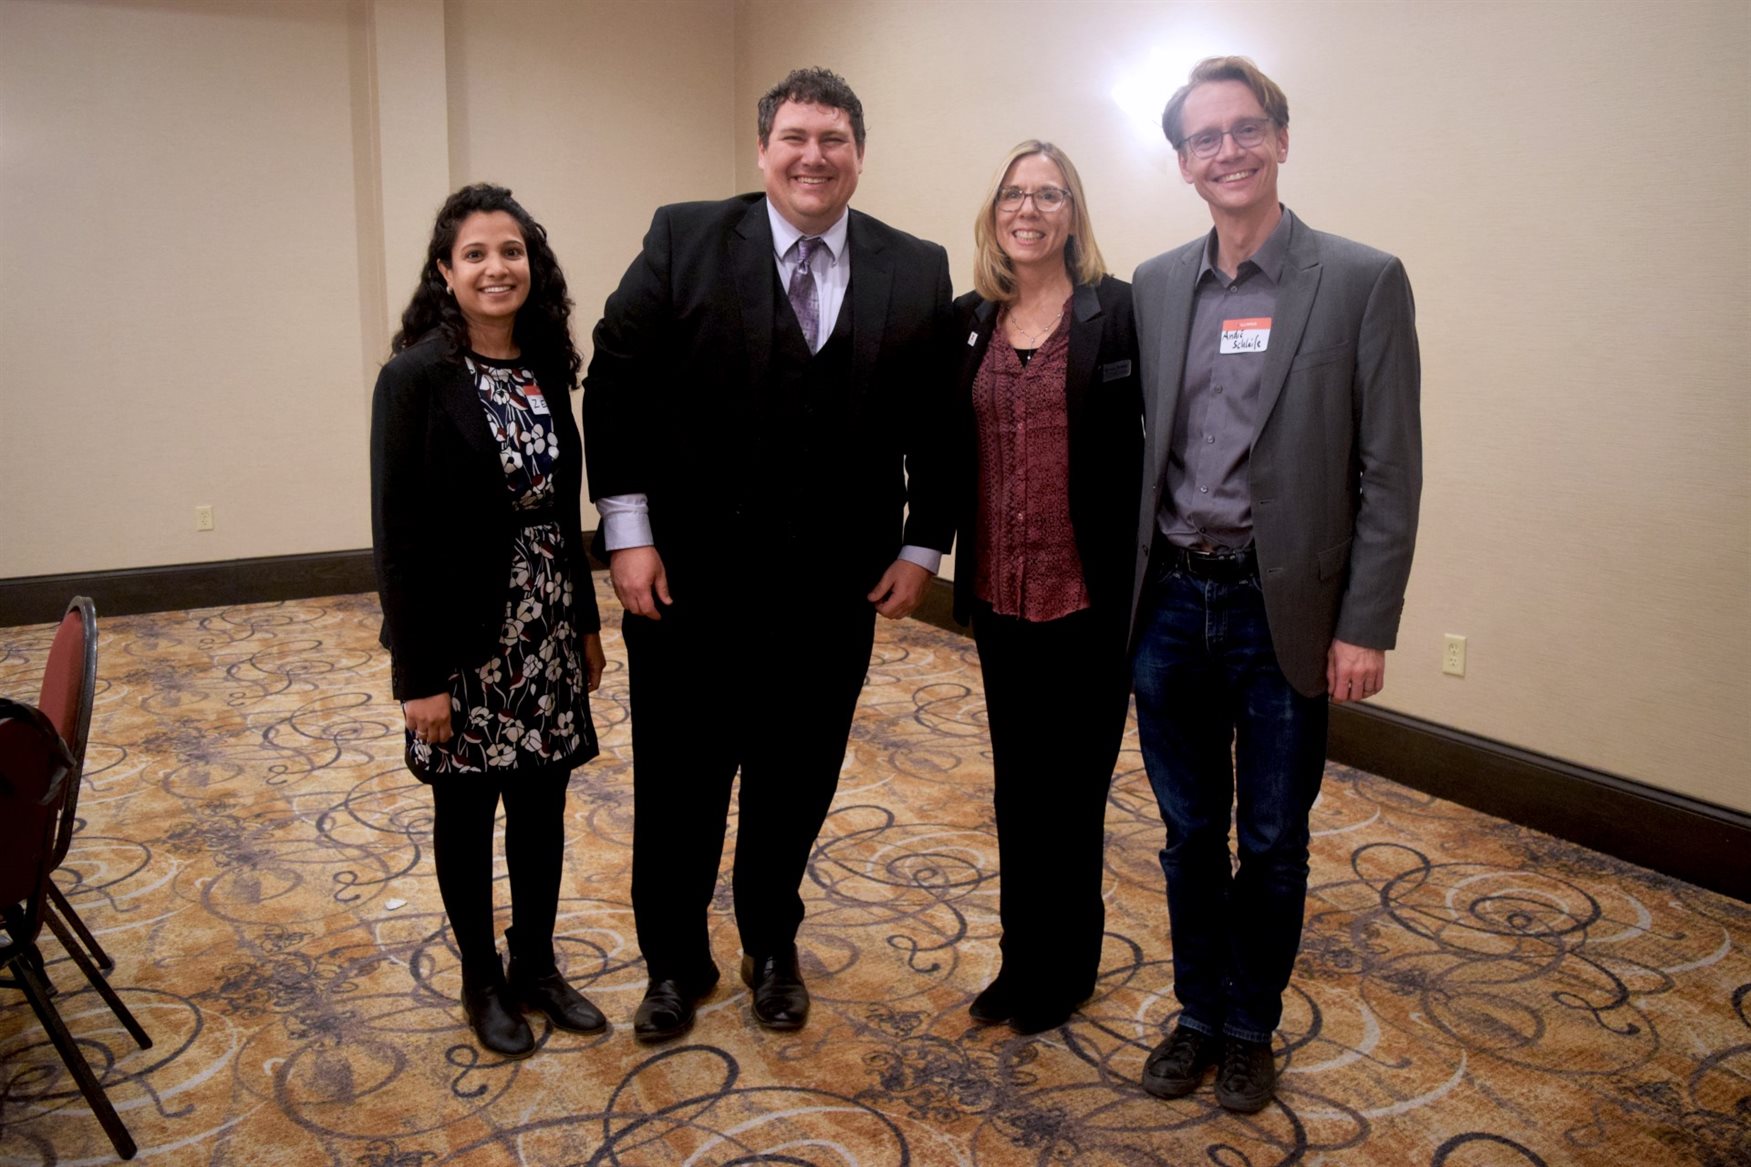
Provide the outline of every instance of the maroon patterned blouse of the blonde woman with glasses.
{"type": "Polygon", "coordinates": [[[974,594],[993,612],[1058,620],[1089,606],[1070,526],[1070,305],[1024,366],[1002,322],[974,377],[979,428],[979,566],[974,594]]]}

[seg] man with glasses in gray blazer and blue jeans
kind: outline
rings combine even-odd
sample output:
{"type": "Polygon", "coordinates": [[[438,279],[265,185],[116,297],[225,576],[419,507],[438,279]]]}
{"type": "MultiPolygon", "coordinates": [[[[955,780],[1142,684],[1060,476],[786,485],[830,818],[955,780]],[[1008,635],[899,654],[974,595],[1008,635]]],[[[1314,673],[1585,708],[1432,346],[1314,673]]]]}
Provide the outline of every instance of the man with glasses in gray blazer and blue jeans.
{"type": "Polygon", "coordinates": [[[1217,1100],[1254,1113],[1275,1092],[1327,701],[1380,692],[1404,605],[1417,328],[1397,259],[1276,202],[1289,102],[1252,61],[1201,61],[1161,124],[1215,228],[1140,266],[1133,293],[1136,717],[1180,1001],[1143,1088],[1180,1097],[1217,1067],[1217,1100]]]}

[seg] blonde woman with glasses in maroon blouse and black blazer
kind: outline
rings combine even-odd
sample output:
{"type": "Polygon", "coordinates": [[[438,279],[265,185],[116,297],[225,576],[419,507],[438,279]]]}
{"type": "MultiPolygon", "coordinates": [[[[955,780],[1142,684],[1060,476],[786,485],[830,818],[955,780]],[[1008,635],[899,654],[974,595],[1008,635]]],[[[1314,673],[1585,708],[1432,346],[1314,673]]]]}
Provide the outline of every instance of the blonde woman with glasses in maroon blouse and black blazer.
{"type": "Polygon", "coordinates": [[[1009,152],[956,301],[963,482],[954,612],[991,729],[1002,967],[970,1013],[1035,1034],[1094,992],[1107,787],[1129,697],[1142,466],[1131,287],[1105,273],[1075,166],[1009,152]]]}

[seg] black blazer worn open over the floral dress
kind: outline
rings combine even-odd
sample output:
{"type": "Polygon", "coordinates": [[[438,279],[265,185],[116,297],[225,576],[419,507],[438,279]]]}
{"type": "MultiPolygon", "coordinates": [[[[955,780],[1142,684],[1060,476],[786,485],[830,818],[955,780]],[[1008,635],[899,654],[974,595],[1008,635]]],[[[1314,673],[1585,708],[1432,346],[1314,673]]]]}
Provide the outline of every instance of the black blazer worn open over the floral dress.
{"type": "MultiPolygon", "coordinates": [[[[601,627],[580,522],[583,445],[564,366],[538,366],[559,459],[553,492],[571,555],[573,624],[601,627]]],[[[499,442],[461,359],[432,335],[397,352],[371,394],[371,547],[382,643],[397,701],[445,692],[450,673],[499,645],[517,519],[499,442]]]]}

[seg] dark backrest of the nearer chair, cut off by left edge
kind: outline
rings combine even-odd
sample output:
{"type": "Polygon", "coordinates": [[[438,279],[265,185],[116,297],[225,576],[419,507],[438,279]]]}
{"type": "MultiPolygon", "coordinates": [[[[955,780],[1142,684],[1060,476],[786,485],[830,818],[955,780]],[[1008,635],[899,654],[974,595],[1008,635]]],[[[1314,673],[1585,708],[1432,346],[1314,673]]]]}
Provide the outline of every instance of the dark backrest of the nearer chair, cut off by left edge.
{"type": "Polygon", "coordinates": [[[42,710],[0,697],[0,904],[25,908],[25,934],[12,936],[9,953],[37,939],[42,925],[42,890],[54,869],[54,817],[72,774],[67,743],[42,710]]]}

